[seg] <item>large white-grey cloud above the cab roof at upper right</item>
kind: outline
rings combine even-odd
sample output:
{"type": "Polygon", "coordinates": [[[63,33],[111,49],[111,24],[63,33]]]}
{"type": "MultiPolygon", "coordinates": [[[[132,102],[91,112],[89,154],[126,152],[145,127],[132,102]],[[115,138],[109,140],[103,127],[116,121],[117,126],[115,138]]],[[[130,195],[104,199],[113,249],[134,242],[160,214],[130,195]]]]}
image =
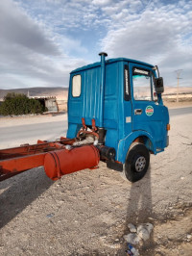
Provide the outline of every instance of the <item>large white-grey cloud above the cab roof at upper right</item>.
{"type": "Polygon", "coordinates": [[[108,34],[101,40],[101,47],[112,57],[127,57],[151,64],[159,64],[161,74],[170,85],[174,70],[185,69],[185,85],[192,80],[192,3],[178,5],[148,5],[144,12],[133,13],[127,18],[122,10],[112,16],[108,34]],[[187,6],[187,8],[180,8],[187,6]],[[118,18],[123,18],[115,25],[118,18]],[[113,24],[114,23],[114,24],[113,24]],[[166,78],[167,77],[167,78],[166,78]]]}

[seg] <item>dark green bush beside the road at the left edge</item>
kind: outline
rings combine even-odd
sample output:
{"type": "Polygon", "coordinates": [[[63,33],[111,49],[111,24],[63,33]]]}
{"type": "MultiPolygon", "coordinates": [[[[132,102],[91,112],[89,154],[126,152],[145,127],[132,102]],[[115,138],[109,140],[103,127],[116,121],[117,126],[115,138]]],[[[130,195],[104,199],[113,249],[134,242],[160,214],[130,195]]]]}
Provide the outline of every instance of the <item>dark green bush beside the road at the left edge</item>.
{"type": "Polygon", "coordinates": [[[44,111],[38,100],[19,93],[8,93],[0,106],[0,115],[42,114],[44,111]]]}

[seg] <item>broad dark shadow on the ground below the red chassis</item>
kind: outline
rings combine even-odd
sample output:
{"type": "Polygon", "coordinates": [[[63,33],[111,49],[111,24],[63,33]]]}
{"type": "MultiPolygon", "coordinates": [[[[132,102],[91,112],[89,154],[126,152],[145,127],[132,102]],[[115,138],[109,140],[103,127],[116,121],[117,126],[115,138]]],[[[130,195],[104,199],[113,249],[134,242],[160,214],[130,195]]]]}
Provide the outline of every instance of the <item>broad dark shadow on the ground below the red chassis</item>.
{"type": "Polygon", "coordinates": [[[46,176],[42,167],[28,170],[1,182],[0,228],[20,214],[53,183],[54,181],[46,176]]]}

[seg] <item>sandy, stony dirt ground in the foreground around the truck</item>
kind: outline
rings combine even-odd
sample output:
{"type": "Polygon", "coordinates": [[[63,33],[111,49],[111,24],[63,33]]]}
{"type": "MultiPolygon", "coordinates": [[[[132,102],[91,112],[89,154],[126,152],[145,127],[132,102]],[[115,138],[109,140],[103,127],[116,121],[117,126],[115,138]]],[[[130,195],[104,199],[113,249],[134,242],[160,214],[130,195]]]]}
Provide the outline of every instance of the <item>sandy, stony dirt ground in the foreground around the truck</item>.
{"type": "Polygon", "coordinates": [[[56,182],[42,167],[1,182],[0,255],[126,255],[128,224],[150,222],[140,255],[191,256],[191,127],[192,114],[172,117],[169,147],[134,184],[104,163],[56,182]]]}

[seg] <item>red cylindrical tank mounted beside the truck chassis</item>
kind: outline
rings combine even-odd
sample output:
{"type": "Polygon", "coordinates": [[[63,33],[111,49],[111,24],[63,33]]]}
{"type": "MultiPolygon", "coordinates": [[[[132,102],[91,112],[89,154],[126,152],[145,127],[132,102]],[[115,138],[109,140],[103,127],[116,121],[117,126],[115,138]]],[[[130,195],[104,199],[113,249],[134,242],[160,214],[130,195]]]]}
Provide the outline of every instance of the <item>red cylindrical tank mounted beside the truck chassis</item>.
{"type": "Polygon", "coordinates": [[[62,175],[98,166],[99,161],[99,150],[94,145],[84,145],[48,152],[44,158],[44,169],[50,179],[58,180],[62,175]]]}

